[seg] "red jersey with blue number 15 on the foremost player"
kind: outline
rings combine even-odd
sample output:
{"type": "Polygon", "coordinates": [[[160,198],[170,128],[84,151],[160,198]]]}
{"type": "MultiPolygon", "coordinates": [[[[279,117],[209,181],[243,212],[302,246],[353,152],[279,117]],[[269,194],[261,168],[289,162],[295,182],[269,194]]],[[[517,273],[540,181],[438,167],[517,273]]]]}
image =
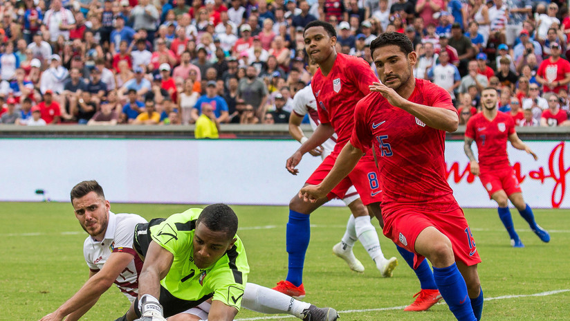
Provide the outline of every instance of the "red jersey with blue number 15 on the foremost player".
{"type": "MultiPolygon", "coordinates": [[[[450,94],[427,80],[416,79],[408,100],[457,113],[450,94]]],[[[354,119],[350,143],[362,150],[374,144],[376,149],[383,212],[401,206],[440,212],[459,208],[445,179],[445,131],[426,126],[378,92],[358,102],[354,119]]]]}

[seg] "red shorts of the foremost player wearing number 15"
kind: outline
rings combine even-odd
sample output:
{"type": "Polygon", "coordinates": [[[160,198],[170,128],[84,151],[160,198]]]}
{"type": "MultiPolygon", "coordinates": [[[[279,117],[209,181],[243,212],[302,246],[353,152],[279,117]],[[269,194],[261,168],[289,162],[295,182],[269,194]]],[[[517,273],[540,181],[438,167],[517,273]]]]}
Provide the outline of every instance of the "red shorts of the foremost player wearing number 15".
{"type": "Polygon", "coordinates": [[[384,219],[384,235],[392,239],[395,244],[415,254],[414,268],[417,268],[423,259],[416,253],[416,238],[425,228],[433,226],[450,239],[455,261],[472,266],[481,262],[475,239],[465,219],[463,210],[457,208],[450,212],[434,212],[419,208],[398,208],[382,213],[384,219]]]}

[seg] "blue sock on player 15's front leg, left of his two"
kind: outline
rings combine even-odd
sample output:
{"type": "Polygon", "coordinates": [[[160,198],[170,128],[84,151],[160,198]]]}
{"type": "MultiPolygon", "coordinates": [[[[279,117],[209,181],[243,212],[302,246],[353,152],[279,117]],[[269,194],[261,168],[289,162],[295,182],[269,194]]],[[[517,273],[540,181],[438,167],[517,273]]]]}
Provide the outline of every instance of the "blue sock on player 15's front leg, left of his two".
{"type": "Polygon", "coordinates": [[[471,300],[468,300],[465,280],[455,263],[447,268],[434,268],[434,279],[439,293],[457,320],[477,320],[471,308],[471,300]]]}

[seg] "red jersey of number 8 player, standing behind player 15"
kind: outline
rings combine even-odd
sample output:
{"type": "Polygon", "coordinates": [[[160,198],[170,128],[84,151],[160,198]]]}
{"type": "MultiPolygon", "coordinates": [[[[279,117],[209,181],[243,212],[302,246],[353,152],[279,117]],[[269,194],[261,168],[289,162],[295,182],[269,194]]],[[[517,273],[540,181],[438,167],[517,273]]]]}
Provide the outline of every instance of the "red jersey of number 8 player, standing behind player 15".
{"type": "Polygon", "coordinates": [[[331,123],[338,135],[333,152],[339,153],[347,144],[354,128],[356,103],[368,95],[369,85],[378,82],[370,65],[362,58],[338,53],[329,75],[317,70],[311,89],[317,100],[319,119],[331,123]]]}

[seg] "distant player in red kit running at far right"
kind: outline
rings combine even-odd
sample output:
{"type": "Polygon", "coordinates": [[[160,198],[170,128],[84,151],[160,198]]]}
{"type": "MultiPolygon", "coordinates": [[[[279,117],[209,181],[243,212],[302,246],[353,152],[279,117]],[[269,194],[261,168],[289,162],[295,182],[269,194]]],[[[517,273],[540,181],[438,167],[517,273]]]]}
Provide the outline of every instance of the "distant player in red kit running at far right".
{"type": "Polygon", "coordinates": [[[550,241],[550,235],[535,222],[533,210],[524,203],[522,190],[515,176],[515,170],[508,162],[506,142],[511,142],[516,149],[524,150],[531,154],[535,160],[536,154],[522,141],[515,131],[513,118],[506,113],[497,111],[497,90],[486,88],[481,92],[481,104],[483,112],[470,118],[465,131],[465,154],[471,161],[471,173],[479,175],[479,180],[487,190],[490,199],[494,199],[499,205],[499,219],[503,222],[508,235],[511,237],[511,245],[515,248],[524,248],[515,228],[511,211],[508,209],[510,199],[520,215],[528,222],[531,230],[544,242],[550,241]],[[473,155],[471,145],[477,143],[479,163],[473,155]]]}

